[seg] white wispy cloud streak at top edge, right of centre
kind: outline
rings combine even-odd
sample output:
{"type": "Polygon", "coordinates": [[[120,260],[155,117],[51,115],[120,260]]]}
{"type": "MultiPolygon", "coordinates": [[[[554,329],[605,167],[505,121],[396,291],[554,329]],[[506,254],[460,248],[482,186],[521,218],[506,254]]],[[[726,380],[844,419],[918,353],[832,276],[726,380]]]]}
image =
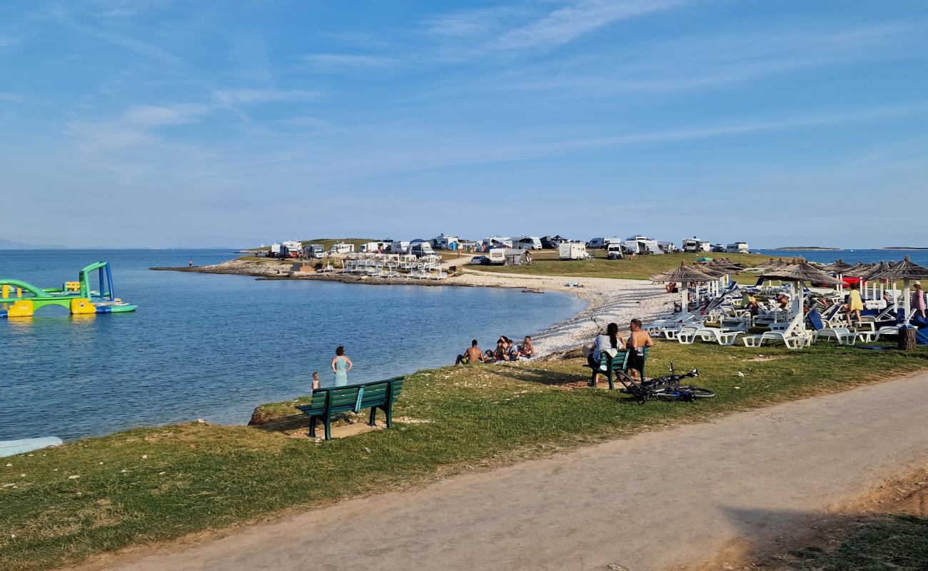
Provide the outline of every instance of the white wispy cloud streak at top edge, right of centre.
{"type": "Polygon", "coordinates": [[[682,4],[684,0],[578,0],[502,34],[488,42],[487,47],[524,49],[563,45],[614,21],[662,12],[682,4]]]}

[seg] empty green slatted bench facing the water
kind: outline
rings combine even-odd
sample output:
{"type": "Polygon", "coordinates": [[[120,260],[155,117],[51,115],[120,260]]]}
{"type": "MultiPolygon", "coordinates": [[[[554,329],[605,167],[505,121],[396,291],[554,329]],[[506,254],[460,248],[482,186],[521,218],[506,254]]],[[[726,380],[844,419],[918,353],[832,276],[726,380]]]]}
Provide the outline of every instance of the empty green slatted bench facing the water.
{"type": "Polygon", "coordinates": [[[377,409],[387,415],[387,428],[393,428],[393,403],[403,392],[403,377],[386,381],[328,386],[313,391],[308,405],[297,405],[297,409],[309,417],[309,435],[316,436],[316,422],[320,419],[326,427],[326,440],[332,438],[332,415],[340,412],[358,413],[370,409],[370,421],[374,426],[377,409]]]}

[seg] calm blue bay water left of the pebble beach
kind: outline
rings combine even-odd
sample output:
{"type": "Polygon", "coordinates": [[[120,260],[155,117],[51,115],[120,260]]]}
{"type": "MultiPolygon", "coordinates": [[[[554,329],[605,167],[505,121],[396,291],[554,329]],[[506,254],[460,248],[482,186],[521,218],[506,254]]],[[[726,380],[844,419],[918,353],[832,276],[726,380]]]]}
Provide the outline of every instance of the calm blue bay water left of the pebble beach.
{"type": "Polygon", "coordinates": [[[451,364],[473,337],[518,338],[583,304],[563,293],[485,288],[259,281],[150,271],[207,265],[227,251],[0,251],[0,276],[40,287],[96,261],[135,313],[71,318],[43,308],[0,319],[0,440],[103,435],[204,419],[247,422],[258,404],[331,382],[343,344],[349,382],[451,364]],[[48,311],[47,313],[45,313],[48,311]]]}

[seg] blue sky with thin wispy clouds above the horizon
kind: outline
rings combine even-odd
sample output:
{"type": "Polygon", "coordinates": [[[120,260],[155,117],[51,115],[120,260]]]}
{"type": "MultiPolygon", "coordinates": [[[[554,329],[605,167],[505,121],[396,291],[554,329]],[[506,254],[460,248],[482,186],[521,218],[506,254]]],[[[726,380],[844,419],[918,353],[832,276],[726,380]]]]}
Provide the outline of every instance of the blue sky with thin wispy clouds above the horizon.
{"type": "Polygon", "coordinates": [[[0,238],[928,246],[928,2],[8,0],[0,238]]]}

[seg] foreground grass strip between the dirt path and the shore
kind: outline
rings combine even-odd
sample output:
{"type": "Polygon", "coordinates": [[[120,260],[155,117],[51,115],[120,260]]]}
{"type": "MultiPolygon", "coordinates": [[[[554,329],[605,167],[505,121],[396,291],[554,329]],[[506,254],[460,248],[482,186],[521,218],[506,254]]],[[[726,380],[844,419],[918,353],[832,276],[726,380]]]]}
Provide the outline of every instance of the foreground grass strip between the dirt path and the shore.
{"type": "Polygon", "coordinates": [[[288,402],[263,406],[274,422],[258,427],[138,428],[0,459],[0,569],[47,569],[649,427],[839,391],[928,369],[928,350],[818,344],[758,352],[659,343],[650,375],[669,360],[678,370],[698,367],[699,384],[718,396],[638,406],[617,391],[576,386],[586,378],[580,358],[448,367],[407,377],[396,416],[419,422],[393,430],[330,442],[293,438],[281,428],[305,422],[288,402]]]}

